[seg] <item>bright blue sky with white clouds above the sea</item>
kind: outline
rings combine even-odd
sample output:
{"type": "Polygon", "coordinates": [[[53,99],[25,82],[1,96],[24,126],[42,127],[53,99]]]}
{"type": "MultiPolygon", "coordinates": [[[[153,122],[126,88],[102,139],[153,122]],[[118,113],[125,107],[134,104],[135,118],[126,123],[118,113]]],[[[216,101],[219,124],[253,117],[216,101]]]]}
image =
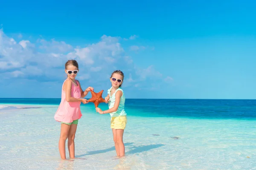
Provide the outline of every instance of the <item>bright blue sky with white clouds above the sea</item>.
{"type": "Polygon", "coordinates": [[[77,59],[82,88],[104,95],[120,69],[127,98],[256,99],[255,5],[2,2],[0,97],[59,98],[64,63],[77,59]]]}

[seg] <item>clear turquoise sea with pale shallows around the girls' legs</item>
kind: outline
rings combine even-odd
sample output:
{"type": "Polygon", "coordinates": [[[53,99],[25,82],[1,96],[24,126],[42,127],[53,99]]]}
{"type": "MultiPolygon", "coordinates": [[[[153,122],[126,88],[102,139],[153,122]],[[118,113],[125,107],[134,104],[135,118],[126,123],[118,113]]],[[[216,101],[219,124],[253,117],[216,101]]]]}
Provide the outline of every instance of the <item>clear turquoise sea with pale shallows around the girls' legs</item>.
{"type": "Polygon", "coordinates": [[[60,101],[0,99],[0,170],[256,169],[256,100],[126,99],[122,158],[110,115],[81,104],[76,159],[65,161],[54,119],[60,101]]]}

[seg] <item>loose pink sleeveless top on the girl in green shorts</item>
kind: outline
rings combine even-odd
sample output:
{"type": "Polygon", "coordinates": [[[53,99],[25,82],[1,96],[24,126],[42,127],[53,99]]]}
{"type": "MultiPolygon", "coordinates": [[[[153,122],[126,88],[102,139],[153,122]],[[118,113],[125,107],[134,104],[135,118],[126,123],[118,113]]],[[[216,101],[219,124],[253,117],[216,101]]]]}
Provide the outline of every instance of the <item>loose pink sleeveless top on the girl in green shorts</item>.
{"type": "MultiPolygon", "coordinates": [[[[66,80],[64,81],[64,83],[66,82],[66,80]]],[[[71,97],[81,98],[81,91],[80,91],[79,83],[77,82],[77,80],[76,80],[76,84],[78,86],[72,83],[71,97]]],[[[80,119],[82,116],[81,110],[80,110],[81,102],[67,102],[66,93],[63,90],[63,85],[61,88],[61,103],[54,115],[54,119],[58,122],[71,123],[76,119],[80,119]]]]}

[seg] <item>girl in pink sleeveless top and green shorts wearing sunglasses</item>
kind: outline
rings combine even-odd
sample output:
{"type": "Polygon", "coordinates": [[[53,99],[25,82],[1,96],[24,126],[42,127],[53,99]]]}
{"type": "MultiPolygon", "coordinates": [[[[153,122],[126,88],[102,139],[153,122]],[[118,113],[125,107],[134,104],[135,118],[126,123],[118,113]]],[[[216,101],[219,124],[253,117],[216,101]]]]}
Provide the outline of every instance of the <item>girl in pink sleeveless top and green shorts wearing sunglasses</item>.
{"type": "Polygon", "coordinates": [[[61,136],[59,139],[59,152],[61,159],[66,159],[65,143],[69,151],[70,158],[75,158],[75,134],[78,119],[81,118],[80,104],[87,104],[87,99],[83,99],[89,91],[93,91],[92,87],[82,90],[80,82],[76,80],[78,74],[78,63],[76,60],[68,60],[65,64],[65,79],[61,88],[61,103],[55,113],[54,119],[61,122],[61,136]]]}

